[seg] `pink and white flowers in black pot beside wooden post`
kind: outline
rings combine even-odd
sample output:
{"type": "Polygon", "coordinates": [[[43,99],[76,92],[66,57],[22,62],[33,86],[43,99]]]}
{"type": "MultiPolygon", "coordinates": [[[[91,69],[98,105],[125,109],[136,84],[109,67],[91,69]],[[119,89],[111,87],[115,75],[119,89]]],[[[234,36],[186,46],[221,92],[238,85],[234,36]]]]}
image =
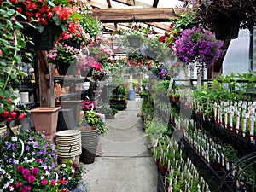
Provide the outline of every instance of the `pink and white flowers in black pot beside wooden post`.
{"type": "Polygon", "coordinates": [[[74,75],[76,61],[79,60],[81,50],[67,44],[56,44],[47,54],[49,63],[55,64],[60,75],[74,75]]]}

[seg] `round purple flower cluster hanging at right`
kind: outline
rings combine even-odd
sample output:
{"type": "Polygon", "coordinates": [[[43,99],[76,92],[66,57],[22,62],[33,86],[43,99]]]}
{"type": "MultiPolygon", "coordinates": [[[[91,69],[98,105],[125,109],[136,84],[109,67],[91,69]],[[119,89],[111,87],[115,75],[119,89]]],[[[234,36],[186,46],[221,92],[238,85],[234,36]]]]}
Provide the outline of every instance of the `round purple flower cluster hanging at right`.
{"type": "Polygon", "coordinates": [[[197,62],[203,67],[212,65],[223,54],[223,41],[201,26],[183,30],[172,49],[180,61],[197,62]]]}

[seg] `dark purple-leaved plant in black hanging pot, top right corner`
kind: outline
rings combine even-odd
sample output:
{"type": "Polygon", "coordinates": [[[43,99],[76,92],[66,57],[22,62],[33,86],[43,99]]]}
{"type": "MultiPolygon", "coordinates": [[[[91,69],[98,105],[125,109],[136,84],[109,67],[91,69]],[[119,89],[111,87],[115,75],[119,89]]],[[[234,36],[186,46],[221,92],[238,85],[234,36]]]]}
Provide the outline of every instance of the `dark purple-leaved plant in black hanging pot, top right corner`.
{"type": "Polygon", "coordinates": [[[239,28],[253,30],[256,24],[255,2],[247,0],[192,0],[197,20],[210,23],[216,38],[237,38],[239,28]],[[218,28],[219,27],[219,28],[218,28]]]}

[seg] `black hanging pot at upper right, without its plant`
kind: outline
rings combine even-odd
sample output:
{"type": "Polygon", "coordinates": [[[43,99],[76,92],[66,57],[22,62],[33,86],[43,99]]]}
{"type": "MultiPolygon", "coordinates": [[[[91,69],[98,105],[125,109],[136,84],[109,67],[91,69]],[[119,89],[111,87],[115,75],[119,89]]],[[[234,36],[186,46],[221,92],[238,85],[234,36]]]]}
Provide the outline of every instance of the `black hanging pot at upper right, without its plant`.
{"type": "Polygon", "coordinates": [[[213,27],[216,39],[235,39],[238,37],[240,20],[236,16],[219,17],[213,23],[213,27]]]}

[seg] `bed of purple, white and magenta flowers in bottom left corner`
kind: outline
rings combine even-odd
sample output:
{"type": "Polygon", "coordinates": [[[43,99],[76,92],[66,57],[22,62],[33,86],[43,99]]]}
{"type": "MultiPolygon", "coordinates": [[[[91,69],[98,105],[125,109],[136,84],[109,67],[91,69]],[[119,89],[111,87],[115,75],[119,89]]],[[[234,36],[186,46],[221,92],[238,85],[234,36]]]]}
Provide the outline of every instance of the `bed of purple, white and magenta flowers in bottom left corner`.
{"type": "Polygon", "coordinates": [[[55,144],[42,132],[21,131],[0,139],[0,189],[51,191],[55,186],[55,144]]]}

